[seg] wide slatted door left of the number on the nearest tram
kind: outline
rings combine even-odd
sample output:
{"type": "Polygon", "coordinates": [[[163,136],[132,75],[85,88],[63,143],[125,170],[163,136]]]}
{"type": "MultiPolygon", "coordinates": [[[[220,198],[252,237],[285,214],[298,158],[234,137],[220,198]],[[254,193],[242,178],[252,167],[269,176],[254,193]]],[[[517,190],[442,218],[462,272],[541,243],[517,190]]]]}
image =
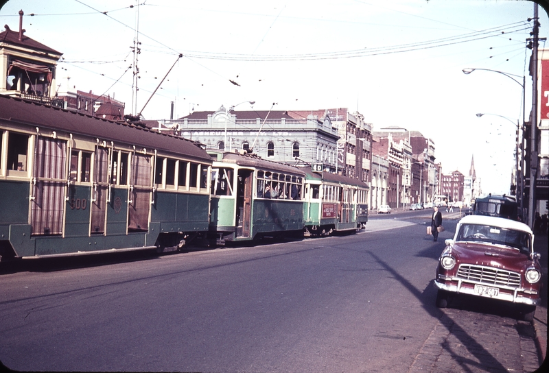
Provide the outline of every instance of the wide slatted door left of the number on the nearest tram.
{"type": "Polygon", "coordinates": [[[32,234],[62,234],[67,141],[36,136],[31,197],[32,234]]]}

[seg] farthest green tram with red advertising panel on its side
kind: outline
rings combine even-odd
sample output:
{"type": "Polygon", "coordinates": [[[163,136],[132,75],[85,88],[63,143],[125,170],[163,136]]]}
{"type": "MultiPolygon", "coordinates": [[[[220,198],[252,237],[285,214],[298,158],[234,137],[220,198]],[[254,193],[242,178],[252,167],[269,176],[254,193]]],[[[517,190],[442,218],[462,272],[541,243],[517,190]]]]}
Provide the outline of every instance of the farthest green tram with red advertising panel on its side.
{"type": "Polygon", "coordinates": [[[369,186],[355,178],[307,170],[305,177],[305,235],[325,236],[356,231],[368,221],[369,186]]]}

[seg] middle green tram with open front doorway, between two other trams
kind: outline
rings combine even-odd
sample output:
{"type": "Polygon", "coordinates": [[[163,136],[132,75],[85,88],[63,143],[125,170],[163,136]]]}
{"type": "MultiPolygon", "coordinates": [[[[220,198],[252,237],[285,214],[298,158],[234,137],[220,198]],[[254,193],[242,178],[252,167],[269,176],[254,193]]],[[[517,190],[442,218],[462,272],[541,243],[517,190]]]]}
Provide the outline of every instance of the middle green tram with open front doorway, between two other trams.
{"type": "Polygon", "coordinates": [[[210,237],[220,243],[303,237],[303,179],[296,167],[253,154],[209,151],[210,237]]]}

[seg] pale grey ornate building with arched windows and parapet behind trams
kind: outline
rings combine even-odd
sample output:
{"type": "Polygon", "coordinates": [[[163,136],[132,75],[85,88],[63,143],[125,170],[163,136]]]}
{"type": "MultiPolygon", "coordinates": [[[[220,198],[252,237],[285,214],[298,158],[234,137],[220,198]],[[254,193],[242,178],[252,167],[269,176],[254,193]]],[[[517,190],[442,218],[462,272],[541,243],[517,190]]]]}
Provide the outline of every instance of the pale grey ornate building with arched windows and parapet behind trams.
{"type": "Polygon", "coordinates": [[[299,115],[283,110],[195,111],[172,121],[159,121],[160,130],[171,129],[198,141],[207,149],[244,149],[264,159],[288,165],[322,163],[336,171],[338,132],[329,116],[299,115]]]}

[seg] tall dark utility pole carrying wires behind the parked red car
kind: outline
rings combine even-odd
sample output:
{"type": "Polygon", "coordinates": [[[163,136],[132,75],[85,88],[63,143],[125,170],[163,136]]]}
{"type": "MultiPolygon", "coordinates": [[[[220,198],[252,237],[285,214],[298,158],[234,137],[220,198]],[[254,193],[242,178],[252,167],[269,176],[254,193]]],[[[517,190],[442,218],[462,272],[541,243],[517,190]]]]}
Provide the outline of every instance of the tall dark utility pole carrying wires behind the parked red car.
{"type": "Polygon", "coordinates": [[[532,43],[532,121],[530,123],[530,193],[528,193],[528,225],[534,228],[534,217],[536,210],[536,178],[537,178],[537,43],[539,33],[539,22],[537,16],[537,3],[534,3],[534,27],[527,39],[532,43]]]}

